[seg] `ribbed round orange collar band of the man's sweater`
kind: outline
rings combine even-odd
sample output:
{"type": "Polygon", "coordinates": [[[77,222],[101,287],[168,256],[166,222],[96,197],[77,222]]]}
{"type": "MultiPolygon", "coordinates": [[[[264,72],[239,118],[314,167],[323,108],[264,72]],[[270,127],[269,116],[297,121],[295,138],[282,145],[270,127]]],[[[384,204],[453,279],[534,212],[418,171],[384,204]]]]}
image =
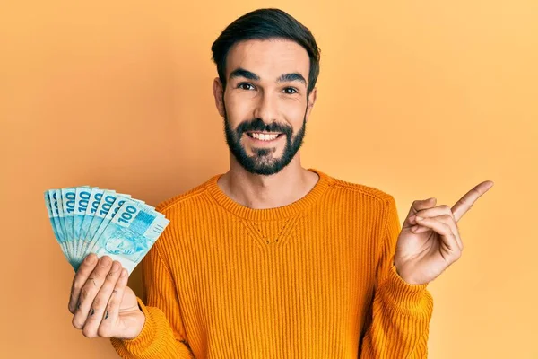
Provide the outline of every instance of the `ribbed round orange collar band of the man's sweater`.
{"type": "Polygon", "coordinates": [[[291,215],[296,215],[300,211],[308,208],[308,206],[311,206],[325,193],[325,189],[328,188],[331,181],[330,176],[325,174],[323,171],[313,168],[309,168],[308,171],[313,171],[319,176],[316,185],[310,189],[305,196],[286,206],[255,209],[240,205],[238,202],[228,197],[228,195],[226,195],[217,184],[217,180],[221,178],[223,173],[217,174],[208,180],[206,183],[206,189],[212,195],[214,200],[219,203],[219,205],[241,218],[258,221],[282,219],[291,215]]]}

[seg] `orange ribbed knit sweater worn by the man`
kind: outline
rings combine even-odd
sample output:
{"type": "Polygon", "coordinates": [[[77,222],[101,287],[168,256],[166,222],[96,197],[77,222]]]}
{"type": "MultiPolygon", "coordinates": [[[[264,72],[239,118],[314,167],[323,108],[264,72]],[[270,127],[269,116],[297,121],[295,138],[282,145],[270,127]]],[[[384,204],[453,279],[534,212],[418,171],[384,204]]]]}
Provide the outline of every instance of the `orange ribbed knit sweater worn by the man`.
{"type": "Polygon", "coordinates": [[[315,171],[287,206],[252,209],[220,175],[157,206],[142,332],[124,358],[426,358],[433,300],[393,264],[394,197],[315,171]]]}

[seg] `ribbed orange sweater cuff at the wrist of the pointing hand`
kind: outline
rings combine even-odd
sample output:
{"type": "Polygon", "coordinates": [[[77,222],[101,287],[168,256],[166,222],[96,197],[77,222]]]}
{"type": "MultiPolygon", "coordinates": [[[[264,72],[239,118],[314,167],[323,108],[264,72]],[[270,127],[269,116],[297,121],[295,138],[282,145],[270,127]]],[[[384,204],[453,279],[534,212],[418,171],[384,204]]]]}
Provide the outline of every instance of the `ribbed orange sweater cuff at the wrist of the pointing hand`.
{"type": "Polygon", "coordinates": [[[406,316],[427,316],[433,309],[433,298],[423,285],[411,285],[398,275],[393,264],[388,271],[388,277],[379,287],[382,298],[388,307],[406,316]]]}

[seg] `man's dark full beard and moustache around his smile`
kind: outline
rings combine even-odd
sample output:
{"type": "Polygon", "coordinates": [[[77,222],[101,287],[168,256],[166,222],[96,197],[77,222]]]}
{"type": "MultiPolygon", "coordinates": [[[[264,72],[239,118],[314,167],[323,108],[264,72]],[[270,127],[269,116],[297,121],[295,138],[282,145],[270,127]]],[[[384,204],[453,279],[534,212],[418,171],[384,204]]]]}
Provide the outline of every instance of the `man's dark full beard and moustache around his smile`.
{"type": "MultiPolygon", "coordinates": [[[[222,100],[222,103],[224,103],[224,100],[222,100]]],[[[241,167],[253,174],[269,176],[278,173],[286,167],[303,144],[306,125],[307,112],[305,111],[302,127],[299,128],[295,136],[292,136],[293,129],[291,127],[278,123],[265,125],[261,118],[243,121],[233,130],[228,122],[228,113],[226,106],[224,106],[224,134],[226,136],[226,144],[228,144],[230,153],[233,154],[241,167]],[[254,154],[249,156],[245,147],[241,144],[241,138],[247,131],[281,132],[281,136],[285,136],[286,139],[282,156],[280,158],[273,157],[276,147],[251,147],[254,154]]]]}

